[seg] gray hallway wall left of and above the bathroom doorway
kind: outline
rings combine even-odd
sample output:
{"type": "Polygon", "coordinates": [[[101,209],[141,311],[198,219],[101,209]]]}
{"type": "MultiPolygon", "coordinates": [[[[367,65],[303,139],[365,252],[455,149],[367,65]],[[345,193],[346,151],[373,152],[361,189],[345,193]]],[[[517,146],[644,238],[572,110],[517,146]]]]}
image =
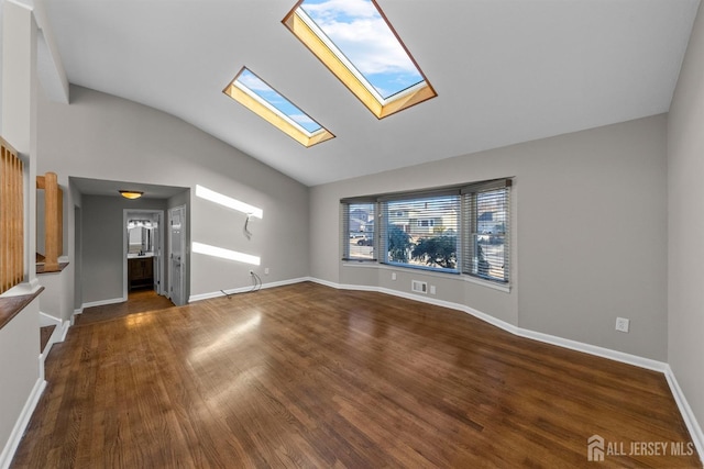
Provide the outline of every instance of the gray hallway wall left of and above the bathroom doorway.
{"type": "Polygon", "coordinates": [[[84,303],[122,298],[124,279],[124,209],[166,210],[166,200],[82,197],[84,303]]]}

